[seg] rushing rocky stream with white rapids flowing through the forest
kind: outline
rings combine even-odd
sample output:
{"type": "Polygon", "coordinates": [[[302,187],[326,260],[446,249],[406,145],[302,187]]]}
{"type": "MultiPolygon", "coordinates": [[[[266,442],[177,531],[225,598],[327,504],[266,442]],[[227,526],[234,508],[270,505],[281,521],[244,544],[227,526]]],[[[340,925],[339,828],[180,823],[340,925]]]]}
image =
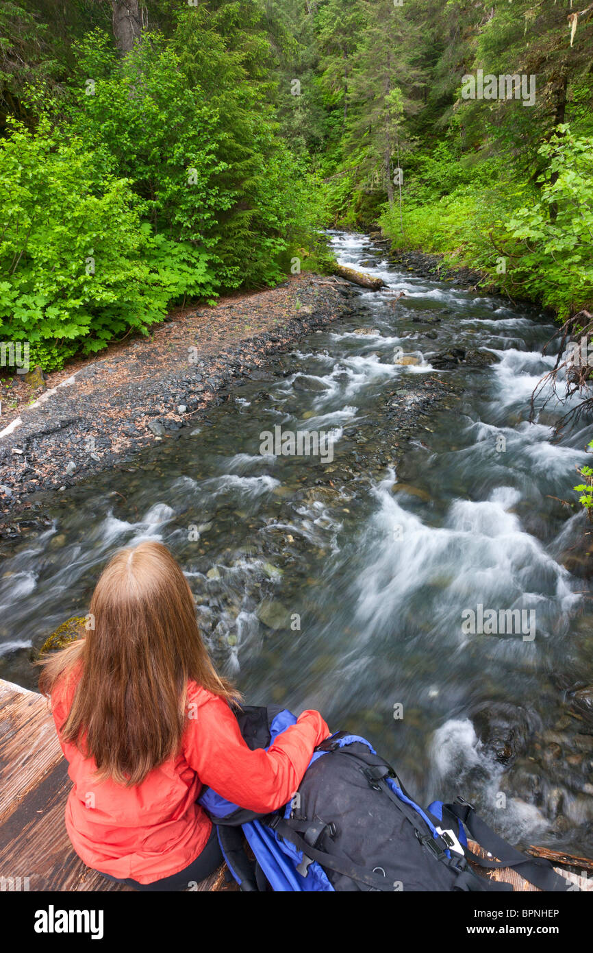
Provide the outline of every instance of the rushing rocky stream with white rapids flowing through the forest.
{"type": "Polygon", "coordinates": [[[565,408],[552,401],[528,422],[554,328],[402,273],[365,236],[332,240],[343,264],[365,262],[389,287],[361,291],[355,316],[233,387],[116,489],[105,473],[56,498],[51,527],[5,550],[0,675],[32,687],[31,645],[84,615],[106,558],[161,539],[247,700],[319,708],[375,742],[421,800],[464,794],[515,842],[586,852],[593,616],[563,565],[583,517],[555,497],[575,498],[590,435],[582,420],[555,439],[565,408]],[[412,385],[437,373],[431,356],[451,347],[496,362],[438,372],[448,395],[400,460],[389,395],[406,385],[413,403],[412,385]],[[394,363],[400,348],[419,363],[394,363]],[[331,432],[332,459],[260,453],[276,425],[331,432]],[[521,627],[479,631],[487,610],[520,610],[521,627]]]}

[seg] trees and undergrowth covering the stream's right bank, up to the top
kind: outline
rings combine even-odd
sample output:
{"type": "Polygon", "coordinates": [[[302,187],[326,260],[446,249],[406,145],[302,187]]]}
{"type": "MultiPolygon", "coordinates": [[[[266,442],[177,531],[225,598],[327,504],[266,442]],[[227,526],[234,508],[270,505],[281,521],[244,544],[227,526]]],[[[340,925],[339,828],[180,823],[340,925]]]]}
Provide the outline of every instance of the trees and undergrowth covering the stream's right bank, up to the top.
{"type": "Polygon", "coordinates": [[[444,253],[561,317],[590,304],[593,5],[325,9],[337,219],[376,220],[397,248],[444,253]]]}

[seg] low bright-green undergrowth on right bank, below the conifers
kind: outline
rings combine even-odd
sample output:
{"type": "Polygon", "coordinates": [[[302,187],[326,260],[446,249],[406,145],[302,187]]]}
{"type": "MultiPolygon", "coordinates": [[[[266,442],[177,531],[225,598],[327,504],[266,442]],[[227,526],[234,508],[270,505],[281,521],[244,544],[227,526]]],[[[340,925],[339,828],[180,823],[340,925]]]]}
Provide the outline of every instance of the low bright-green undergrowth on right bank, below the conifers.
{"type": "Polygon", "coordinates": [[[502,157],[473,166],[441,144],[412,166],[399,209],[381,223],[396,247],[445,253],[511,296],[561,318],[593,300],[593,138],[559,127],[539,149],[543,172],[524,183],[502,157]]]}

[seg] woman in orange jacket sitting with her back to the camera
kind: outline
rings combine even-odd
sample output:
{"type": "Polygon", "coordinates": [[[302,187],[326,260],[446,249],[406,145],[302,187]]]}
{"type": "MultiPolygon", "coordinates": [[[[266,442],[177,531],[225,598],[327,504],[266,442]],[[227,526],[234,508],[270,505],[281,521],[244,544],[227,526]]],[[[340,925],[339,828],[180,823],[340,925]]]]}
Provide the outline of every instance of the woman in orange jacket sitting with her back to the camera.
{"type": "Polygon", "coordinates": [[[267,751],[251,751],[216,674],[193,597],[168,549],[114,556],[90,602],[84,639],[44,660],[40,690],[73,787],[66,826],[78,856],[139,890],[183,890],[222,862],[196,802],[202,785],[248,810],[290,800],[329,735],[306,711],[267,751]]]}

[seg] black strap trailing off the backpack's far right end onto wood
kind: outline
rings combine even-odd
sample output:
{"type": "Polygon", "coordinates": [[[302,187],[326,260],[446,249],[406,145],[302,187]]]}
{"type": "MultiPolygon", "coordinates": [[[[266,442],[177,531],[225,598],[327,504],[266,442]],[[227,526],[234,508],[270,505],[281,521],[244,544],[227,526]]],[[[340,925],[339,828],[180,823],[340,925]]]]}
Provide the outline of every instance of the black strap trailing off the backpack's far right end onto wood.
{"type": "Polygon", "coordinates": [[[557,874],[552,864],[544,858],[528,858],[515,847],[499,837],[488,825],[476,814],[473,804],[465,801],[464,798],[457,798],[452,804],[443,805],[444,820],[451,819],[453,826],[457,820],[462,821],[471,834],[474,841],[478,841],[484,850],[498,858],[498,861],[489,861],[487,858],[474,854],[465,847],[465,856],[480,867],[499,869],[501,867],[512,867],[517,873],[524,877],[529,883],[539,887],[541,890],[564,892],[570,888],[570,884],[557,874]]]}

